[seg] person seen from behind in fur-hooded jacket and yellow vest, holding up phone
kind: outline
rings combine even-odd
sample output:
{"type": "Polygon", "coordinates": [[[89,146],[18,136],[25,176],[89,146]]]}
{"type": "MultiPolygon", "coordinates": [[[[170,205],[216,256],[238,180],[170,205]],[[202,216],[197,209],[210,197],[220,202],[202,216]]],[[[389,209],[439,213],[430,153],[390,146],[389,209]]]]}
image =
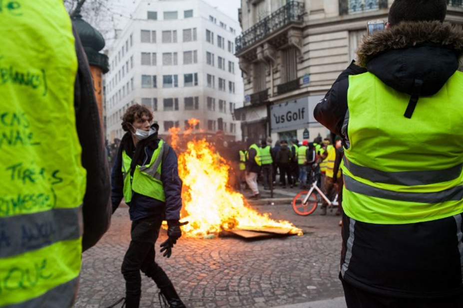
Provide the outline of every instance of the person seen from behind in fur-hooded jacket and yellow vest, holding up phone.
{"type": "Polygon", "coordinates": [[[395,0],[314,111],[344,139],[349,308],[462,307],[463,30],[447,3],[395,0]]]}

